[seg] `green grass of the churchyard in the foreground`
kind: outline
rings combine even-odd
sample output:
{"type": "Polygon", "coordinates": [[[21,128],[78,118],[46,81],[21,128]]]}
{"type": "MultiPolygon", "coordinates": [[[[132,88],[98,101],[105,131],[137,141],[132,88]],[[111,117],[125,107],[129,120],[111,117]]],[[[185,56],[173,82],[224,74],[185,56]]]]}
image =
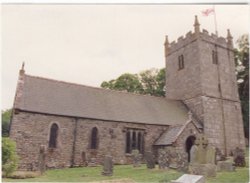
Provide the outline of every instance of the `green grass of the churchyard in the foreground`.
{"type": "MultiPolygon", "coordinates": [[[[117,165],[113,176],[101,175],[102,167],[67,168],[48,170],[40,177],[30,179],[3,179],[3,182],[159,182],[166,183],[175,180],[182,174],[174,170],[149,170],[146,165],[133,168],[132,165],[117,165]],[[112,181],[114,180],[114,181],[112,181]],[[115,181],[116,180],[116,181],[115,181]]],[[[236,172],[220,172],[216,178],[209,178],[208,183],[247,183],[248,168],[237,168],[236,172]]]]}

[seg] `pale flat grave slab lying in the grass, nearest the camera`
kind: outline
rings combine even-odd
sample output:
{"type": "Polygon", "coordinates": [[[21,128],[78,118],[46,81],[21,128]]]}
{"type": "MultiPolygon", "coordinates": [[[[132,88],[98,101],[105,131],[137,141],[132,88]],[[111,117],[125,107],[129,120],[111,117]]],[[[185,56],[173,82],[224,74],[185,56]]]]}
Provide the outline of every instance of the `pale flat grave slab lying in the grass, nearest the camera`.
{"type": "Polygon", "coordinates": [[[205,178],[201,175],[184,174],[177,180],[172,180],[171,183],[205,183],[205,178]]]}

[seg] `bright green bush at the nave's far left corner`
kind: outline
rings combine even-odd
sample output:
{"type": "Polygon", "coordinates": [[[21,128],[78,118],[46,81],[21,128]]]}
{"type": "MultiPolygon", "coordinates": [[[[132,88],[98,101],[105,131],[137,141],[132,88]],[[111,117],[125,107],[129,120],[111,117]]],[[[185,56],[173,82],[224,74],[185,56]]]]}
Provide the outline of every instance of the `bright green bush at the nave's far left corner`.
{"type": "Polygon", "coordinates": [[[16,154],[16,144],[11,139],[2,138],[2,170],[5,176],[10,176],[17,168],[18,156],[16,154]]]}

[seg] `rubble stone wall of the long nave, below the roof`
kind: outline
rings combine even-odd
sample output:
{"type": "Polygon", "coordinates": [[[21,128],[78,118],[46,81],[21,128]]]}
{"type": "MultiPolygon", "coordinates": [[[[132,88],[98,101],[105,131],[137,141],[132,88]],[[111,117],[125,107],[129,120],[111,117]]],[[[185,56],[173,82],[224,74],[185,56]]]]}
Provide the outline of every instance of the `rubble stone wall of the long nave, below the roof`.
{"type": "Polygon", "coordinates": [[[131,154],[125,153],[126,133],[124,129],[126,128],[145,131],[145,152],[153,150],[154,141],[168,126],[76,119],[20,111],[13,116],[10,138],[17,143],[17,153],[21,160],[20,169],[37,169],[40,145],[46,146],[48,168],[82,166],[83,152],[88,162],[95,154],[98,164],[102,162],[105,155],[112,155],[116,164],[127,164],[131,162],[131,154]],[[59,126],[56,149],[48,148],[50,126],[53,123],[59,126]],[[94,127],[98,129],[97,150],[90,149],[89,145],[91,130],[94,127]]]}

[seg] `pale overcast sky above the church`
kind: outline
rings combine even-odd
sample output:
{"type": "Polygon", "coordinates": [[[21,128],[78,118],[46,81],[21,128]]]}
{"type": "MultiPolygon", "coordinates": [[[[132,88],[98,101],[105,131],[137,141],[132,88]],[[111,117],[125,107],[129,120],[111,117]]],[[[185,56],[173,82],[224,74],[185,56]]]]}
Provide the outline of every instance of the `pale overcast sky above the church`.
{"type": "MultiPolygon", "coordinates": [[[[212,5],[2,4],[1,107],[13,106],[18,73],[99,87],[124,73],[163,68],[164,40],[215,33],[212,5]]],[[[219,36],[249,32],[249,5],[216,5],[219,36]]]]}

